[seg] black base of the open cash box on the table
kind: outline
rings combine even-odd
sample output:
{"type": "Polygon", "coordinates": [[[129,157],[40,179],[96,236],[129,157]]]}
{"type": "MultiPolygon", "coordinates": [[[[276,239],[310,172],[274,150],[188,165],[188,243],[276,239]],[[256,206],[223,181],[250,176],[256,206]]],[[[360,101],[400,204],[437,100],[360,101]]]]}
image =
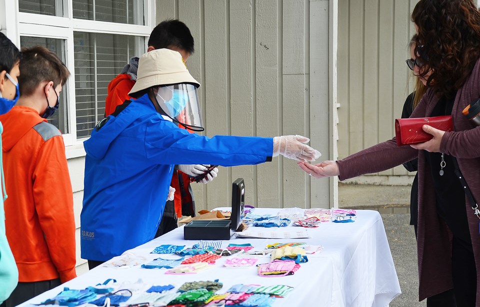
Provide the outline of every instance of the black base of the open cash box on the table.
{"type": "Polygon", "coordinates": [[[229,240],[230,220],[192,220],[183,227],[185,240],[229,240]]]}

